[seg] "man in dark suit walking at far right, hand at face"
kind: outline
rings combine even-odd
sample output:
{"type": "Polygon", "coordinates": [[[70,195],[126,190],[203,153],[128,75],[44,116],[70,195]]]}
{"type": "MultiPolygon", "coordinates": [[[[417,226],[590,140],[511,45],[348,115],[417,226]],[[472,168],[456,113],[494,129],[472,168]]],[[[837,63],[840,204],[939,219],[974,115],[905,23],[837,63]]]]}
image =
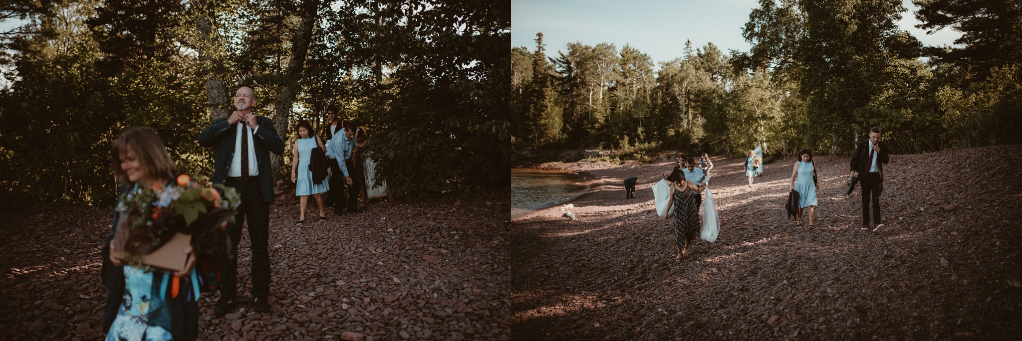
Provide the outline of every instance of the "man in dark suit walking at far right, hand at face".
{"type": "Polygon", "coordinates": [[[863,189],[863,227],[870,230],[870,200],[873,200],[873,232],[884,230],[880,224],[880,193],[884,191],[884,163],[889,161],[887,145],[880,141],[880,128],[870,129],[870,139],[860,142],[851,156],[851,175],[858,177],[863,189]]]}

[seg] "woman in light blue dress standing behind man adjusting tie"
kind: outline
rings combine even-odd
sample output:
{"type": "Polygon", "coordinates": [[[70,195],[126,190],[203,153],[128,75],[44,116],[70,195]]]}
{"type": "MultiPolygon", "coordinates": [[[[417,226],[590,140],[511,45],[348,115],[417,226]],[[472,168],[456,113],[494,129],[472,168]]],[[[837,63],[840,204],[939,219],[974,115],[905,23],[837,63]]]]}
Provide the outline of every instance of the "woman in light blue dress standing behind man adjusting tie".
{"type": "Polygon", "coordinates": [[[316,198],[316,205],[320,209],[320,223],[326,222],[326,213],[323,212],[323,196],[320,193],[330,190],[327,181],[315,184],[313,172],[309,169],[309,161],[313,156],[313,148],[323,146],[323,141],[318,136],[312,135],[313,127],[308,120],[298,121],[298,139],[294,141],[291,158],[291,181],[294,182],[294,195],[298,196],[298,224],[306,224],[306,205],[309,203],[309,196],[316,198]]]}

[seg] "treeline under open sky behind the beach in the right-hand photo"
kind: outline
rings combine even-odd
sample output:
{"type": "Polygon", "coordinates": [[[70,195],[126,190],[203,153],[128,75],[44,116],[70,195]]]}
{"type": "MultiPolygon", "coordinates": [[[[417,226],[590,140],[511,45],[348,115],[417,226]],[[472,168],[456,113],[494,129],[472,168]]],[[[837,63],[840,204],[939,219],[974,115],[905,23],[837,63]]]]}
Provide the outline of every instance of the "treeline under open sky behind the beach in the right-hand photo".
{"type": "Polygon", "coordinates": [[[1022,142],[1022,1],[914,3],[760,0],[750,51],[686,42],[659,64],[605,43],[548,55],[537,34],[511,51],[512,147],[850,153],[874,126],[897,153],[1022,142]],[[924,46],[901,15],[961,47],[924,46]]]}

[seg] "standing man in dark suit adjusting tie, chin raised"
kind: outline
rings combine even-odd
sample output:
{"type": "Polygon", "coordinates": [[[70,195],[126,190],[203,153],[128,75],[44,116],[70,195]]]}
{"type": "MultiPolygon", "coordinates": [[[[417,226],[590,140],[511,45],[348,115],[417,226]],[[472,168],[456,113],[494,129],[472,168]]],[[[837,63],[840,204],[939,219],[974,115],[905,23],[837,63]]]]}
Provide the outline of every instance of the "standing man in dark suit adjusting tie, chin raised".
{"type": "Polygon", "coordinates": [[[270,295],[270,204],[273,203],[273,169],[270,167],[270,152],[284,152],[281,141],[273,127],[273,120],[252,113],[256,94],[248,87],[241,87],[234,95],[237,108],[227,118],[214,120],[213,126],[198,135],[198,144],[215,147],[213,183],[233,187],[241,197],[234,224],[227,227],[227,233],[234,243],[234,255],[224,264],[220,285],[220,300],[216,313],[224,314],[234,310],[237,299],[238,260],[237,246],[241,240],[241,225],[248,221],[248,237],[251,240],[251,281],[252,308],[256,311],[270,311],[267,297],[270,295]]]}

